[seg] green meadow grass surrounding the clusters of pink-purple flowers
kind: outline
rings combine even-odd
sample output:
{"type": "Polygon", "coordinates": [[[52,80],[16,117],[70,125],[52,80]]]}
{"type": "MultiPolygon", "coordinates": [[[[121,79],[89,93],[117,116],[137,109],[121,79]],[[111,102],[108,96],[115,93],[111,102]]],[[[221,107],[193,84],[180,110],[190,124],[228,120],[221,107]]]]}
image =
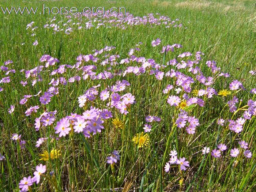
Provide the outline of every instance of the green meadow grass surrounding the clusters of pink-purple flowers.
{"type": "MultiPolygon", "coordinates": [[[[10,6],[39,6],[42,3],[48,7],[75,6],[82,8],[105,6],[106,9],[115,7],[125,7],[127,12],[135,16],[144,16],[148,13],[159,13],[175,20],[179,18],[177,24],[182,23],[182,27],[170,27],[166,29],[163,25],[132,25],[122,30],[116,27],[92,27],[90,29],[74,29],[70,34],[63,31],[53,33],[52,29],[45,29],[46,21],[53,18],[53,15],[3,15],[0,17],[0,63],[12,60],[13,64],[7,65],[10,69],[15,69],[16,73],[9,74],[10,83],[1,83],[3,91],[0,92],[0,126],[1,126],[1,148],[0,153],[5,156],[0,161],[0,187],[3,191],[16,191],[19,181],[23,177],[33,176],[35,166],[43,163],[47,167],[46,177],[41,177],[40,184],[33,184],[34,191],[255,191],[255,116],[252,120],[246,120],[243,131],[240,134],[229,130],[228,124],[225,127],[218,126],[217,119],[234,119],[242,116],[243,111],[229,112],[226,106],[227,101],[234,95],[243,99],[241,107],[247,104],[249,99],[256,100],[255,94],[249,93],[255,88],[255,76],[249,71],[256,70],[256,32],[255,32],[255,11],[256,5],[253,1],[90,1],[82,3],[80,1],[42,1],[42,2],[11,2],[3,1],[2,7],[10,6]],[[34,21],[35,36],[31,29],[26,30],[26,25],[34,21]],[[160,38],[161,45],[151,46],[153,39],[160,38]],[[38,45],[33,46],[37,39],[38,45]],[[202,61],[198,66],[203,74],[214,76],[205,64],[208,60],[215,60],[217,67],[221,67],[222,72],[230,74],[230,78],[219,77],[214,80],[211,86],[215,90],[229,89],[229,83],[238,79],[246,88],[245,91],[236,93],[232,91],[227,97],[214,95],[212,98],[203,97],[206,105],[194,106],[189,110],[189,116],[198,118],[200,125],[196,128],[194,135],[189,135],[185,128],[178,129],[174,122],[177,118],[178,109],[170,106],[166,101],[169,95],[180,94],[171,90],[169,94],[163,94],[162,90],[167,84],[175,84],[174,78],[166,78],[159,81],[154,75],[145,74],[136,76],[127,74],[114,76],[113,79],[106,80],[81,80],[80,82],[68,83],[67,86],[59,85],[59,94],[52,97],[47,105],[42,105],[38,97],[32,97],[25,105],[20,105],[19,101],[24,95],[35,95],[40,90],[42,94],[50,87],[48,83],[52,78],[64,76],[66,79],[72,76],[82,76],[81,71],[69,69],[64,74],[51,76],[50,72],[57,69],[59,65],[74,65],[76,57],[80,54],[93,53],[94,49],[102,49],[105,46],[114,46],[110,55],[119,54],[121,59],[128,58],[128,52],[135,48],[138,42],[143,44],[136,52],[137,57],[154,59],[158,64],[166,64],[167,61],[176,58],[182,52],[191,52],[193,55],[197,51],[202,51],[202,61]],[[22,45],[24,43],[24,45],[22,45]],[[162,46],[167,44],[181,44],[181,49],[174,52],[160,53],[162,46]],[[50,54],[60,60],[59,64],[47,68],[40,75],[43,81],[32,86],[32,78],[27,79],[27,86],[23,87],[19,82],[25,81],[25,73],[19,72],[21,69],[30,70],[39,65],[44,65],[39,61],[43,54],[50,54]],[[131,93],[135,96],[136,103],[129,108],[127,115],[120,114],[118,110],[110,109],[113,118],[118,117],[123,123],[123,129],[116,129],[112,119],[104,121],[105,129],[102,133],[97,133],[92,138],[85,138],[82,133],[69,134],[59,140],[50,138],[55,134],[54,127],[57,121],[68,116],[70,113],[82,114],[84,110],[90,109],[93,105],[99,109],[108,108],[106,101],[101,101],[99,97],[94,102],[88,102],[84,108],[79,108],[78,97],[92,86],[101,84],[98,91],[102,91],[108,85],[112,86],[117,80],[128,80],[131,83],[121,92],[131,93]],[[12,114],[8,113],[10,105],[15,105],[12,114]],[[26,117],[25,111],[30,106],[39,105],[37,113],[32,113],[26,117]],[[56,120],[47,127],[41,127],[39,131],[34,129],[34,121],[45,110],[57,110],[56,120]],[[152,131],[149,133],[150,143],[148,146],[138,149],[132,142],[136,133],[143,131],[145,117],[148,115],[161,117],[160,122],[151,123],[152,131]],[[174,119],[172,119],[174,117],[174,119]],[[26,141],[26,148],[20,148],[11,140],[13,133],[22,135],[26,141]],[[35,147],[39,138],[48,138],[39,148],[35,147]],[[252,158],[241,156],[230,157],[231,148],[239,148],[238,141],[245,140],[249,143],[252,151],[252,158]],[[218,143],[225,143],[227,151],[222,153],[221,158],[213,158],[210,153],[202,155],[204,146],[211,150],[218,143]],[[61,151],[61,157],[50,159],[47,162],[40,161],[39,154],[44,150],[48,153],[57,148],[61,151]],[[116,149],[119,151],[120,161],[111,167],[106,163],[106,157],[116,149]],[[190,167],[186,171],[180,171],[177,165],[172,165],[169,173],[164,173],[163,167],[168,161],[169,151],[176,149],[178,157],[185,157],[189,161],[190,167]],[[53,171],[52,176],[50,172],[53,171]]],[[[72,18],[74,19],[74,18],[72,18]]],[[[56,15],[57,21],[67,22],[67,18],[56,15]]],[[[74,19],[75,20],[75,19],[74,19]]],[[[76,20],[76,22],[78,22],[76,20]]],[[[75,27],[74,27],[75,28],[75,27]]],[[[104,54],[104,53],[103,53],[104,54]]],[[[99,62],[95,64],[97,74],[107,70],[110,65],[102,66],[99,63],[106,58],[103,54],[98,56],[99,62]]],[[[193,59],[195,59],[193,57],[193,59]]],[[[177,59],[178,60],[178,59],[177,59]]],[[[115,65],[110,72],[116,73],[119,69],[124,70],[128,66],[140,66],[140,63],[131,62],[129,64],[115,65]]],[[[173,66],[170,66],[176,70],[173,66]]],[[[169,66],[161,69],[164,72],[170,70],[169,66]]],[[[187,69],[181,69],[182,73],[192,76],[187,69]]],[[[7,75],[1,71],[1,79],[7,75]]],[[[176,88],[176,87],[175,87],[176,88]]],[[[204,89],[202,83],[195,81],[192,89],[204,89]]],[[[189,93],[189,97],[192,94],[189,93]]],[[[238,103],[239,104],[239,103],[238,103]]],[[[238,105],[237,104],[237,105],[238,105]]],[[[239,107],[237,108],[239,109],[239,107]]]]}

